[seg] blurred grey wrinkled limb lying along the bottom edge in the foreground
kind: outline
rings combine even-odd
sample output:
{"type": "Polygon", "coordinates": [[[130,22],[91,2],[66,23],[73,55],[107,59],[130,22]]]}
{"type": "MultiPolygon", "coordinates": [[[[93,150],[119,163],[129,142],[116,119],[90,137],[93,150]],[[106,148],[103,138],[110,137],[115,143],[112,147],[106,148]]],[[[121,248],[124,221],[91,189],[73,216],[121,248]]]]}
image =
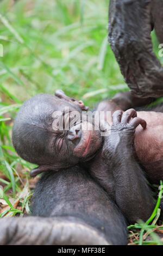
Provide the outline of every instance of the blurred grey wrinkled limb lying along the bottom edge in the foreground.
{"type": "Polygon", "coordinates": [[[109,244],[102,232],[70,217],[3,218],[0,230],[0,245],[109,244]]]}

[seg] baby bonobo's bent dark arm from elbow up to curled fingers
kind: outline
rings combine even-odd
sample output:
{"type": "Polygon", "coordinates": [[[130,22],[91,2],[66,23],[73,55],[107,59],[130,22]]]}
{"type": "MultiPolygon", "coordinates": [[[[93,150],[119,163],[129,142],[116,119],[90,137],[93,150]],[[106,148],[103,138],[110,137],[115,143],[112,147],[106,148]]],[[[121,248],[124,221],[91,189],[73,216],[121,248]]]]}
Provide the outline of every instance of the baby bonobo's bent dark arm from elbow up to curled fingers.
{"type": "Polygon", "coordinates": [[[153,198],[146,184],[142,169],[135,159],[133,147],[135,128],[146,121],[136,117],[129,109],[115,111],[112,116],[111,134],[105,137],[102,156],[115,182],[115,201],[129,223],[146,221],[153,211],[153,198]],[[133,118],[131,121],[130,119],[133,118]]]}

